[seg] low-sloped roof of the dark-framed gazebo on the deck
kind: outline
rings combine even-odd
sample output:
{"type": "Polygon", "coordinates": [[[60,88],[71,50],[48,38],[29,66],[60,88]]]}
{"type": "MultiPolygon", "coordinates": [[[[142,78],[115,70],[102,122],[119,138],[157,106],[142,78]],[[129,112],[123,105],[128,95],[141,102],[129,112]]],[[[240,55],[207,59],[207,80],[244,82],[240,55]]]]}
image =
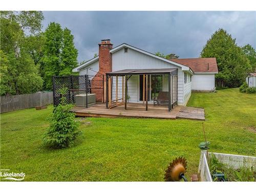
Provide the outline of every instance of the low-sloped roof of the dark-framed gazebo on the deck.
{"type": "Polygon", "coordinates": [[[171,74],[178,75],[177,69],[124,69],[106,73],[107,75],[171,74]]]}

